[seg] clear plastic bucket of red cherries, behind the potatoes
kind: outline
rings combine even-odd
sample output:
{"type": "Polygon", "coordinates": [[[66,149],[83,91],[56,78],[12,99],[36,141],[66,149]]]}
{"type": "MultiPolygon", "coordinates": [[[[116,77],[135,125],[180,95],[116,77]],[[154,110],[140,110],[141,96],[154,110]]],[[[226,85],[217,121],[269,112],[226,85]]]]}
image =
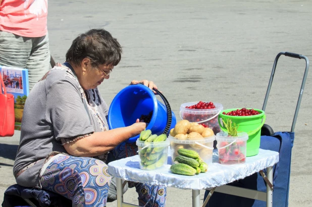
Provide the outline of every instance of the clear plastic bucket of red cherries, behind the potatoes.
{"type": "Polygon", "coordinates": [[[197,122],[200,124],[205,124],[209,128],[213,129],[214,133],[220,132],[220,126],[218,122],[218,115],[223,110],[223,105],[214,102],[216,108],[213,109],[190,109],[185,108],[186,106],[192,106],[197,104],[197,102],[189,102],[181,104],[180,106],[180,116],[182,119],[188,120],[189,122],[197,122]]]}

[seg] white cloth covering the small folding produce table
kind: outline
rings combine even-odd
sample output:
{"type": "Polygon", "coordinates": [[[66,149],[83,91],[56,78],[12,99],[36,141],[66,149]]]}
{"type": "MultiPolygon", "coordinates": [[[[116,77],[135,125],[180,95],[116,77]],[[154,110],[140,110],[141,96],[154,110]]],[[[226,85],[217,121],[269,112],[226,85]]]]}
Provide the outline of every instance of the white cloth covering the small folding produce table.
{"type": "Polygon", "coordinates": [[[156,170],[141,170],[139,156],[128,157],[109,163],[109,173],[118,178],[153,185],[165,185],[180,189],[207,189],[225,185],[243,179],[253,173],[273,166],[279,161],[279,153],[259,150],[259,154],[247,157],[244,164],[221,165],[218,163],[218,152],[213,153],[213,163],[209,164],[206,173],[194,176],[177,175],[170,171],[171,157],[168,165],[156,170]]]}

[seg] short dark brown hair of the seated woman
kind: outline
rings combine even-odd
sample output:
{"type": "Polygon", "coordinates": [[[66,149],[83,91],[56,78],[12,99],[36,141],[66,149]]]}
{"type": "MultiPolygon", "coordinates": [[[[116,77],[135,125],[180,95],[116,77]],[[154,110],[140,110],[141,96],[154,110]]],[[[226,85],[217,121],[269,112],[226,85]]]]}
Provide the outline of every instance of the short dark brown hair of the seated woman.
{"type": "Polygon", "coordinates": [[[66,61],[80,65],[83,58],[89,58],[91,65],[117,65],[121,59],[122,48],[111,33],[104,29],[91,29],[73,40],[66,53],[66,61]]]}

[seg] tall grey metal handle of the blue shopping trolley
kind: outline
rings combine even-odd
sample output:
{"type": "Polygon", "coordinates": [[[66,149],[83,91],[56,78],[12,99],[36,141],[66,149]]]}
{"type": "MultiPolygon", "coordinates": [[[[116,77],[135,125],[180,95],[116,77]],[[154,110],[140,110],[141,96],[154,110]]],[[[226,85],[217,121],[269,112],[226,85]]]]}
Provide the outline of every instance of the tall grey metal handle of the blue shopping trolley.
{"type": "Polygon", "coordinates": [[[297,101],[295,115],[294,115],[292,125],[291,125],[291,132],[294,132],[296,121],[297,121],[297,116],[298,116],[298,112],[299,112],[299,108],[300,108],[301,98],[302,98],[302,94],[303,94],[303,90],[304,90],[304,85],[305,85],[305,81],[306,81],[306,77],[307,77],[307,72],[309,70],[309,60],[306,56],[301,55],[301,54],[292,53],[292,52],[280,52],[280,53],[278,53],[278,55],[275,57],[275,60],[274,60],[272,73],[271,73],[271,77],[270,77],[270,81],[269,81],[269,85],[268,85],[268,89],[267,89],[267,93],[266,93],[266,98],[265,98],[265,101],[263,103],[262,110],[263,111],[266,110],[266,106],[267,106],[267,102],[268,102],[268,98],[269,98],[269,94],[270,94],[270,90],[271,90],[271,86],[272,86],[272,81],[273,81],[274,73],[275,73],[275,69],[276,69],[276,64],[277,64],[279,57],[282,54],[285,56],[288,56],[288,57],[293,57],[293,58],[305,60],[305,71],[304,71],[303,80],[302,80],[302,84],[301,84],[301,88],[300,88],[300,92],[299,92],[299,97],[298,97],[298,101],[297,101]]]}

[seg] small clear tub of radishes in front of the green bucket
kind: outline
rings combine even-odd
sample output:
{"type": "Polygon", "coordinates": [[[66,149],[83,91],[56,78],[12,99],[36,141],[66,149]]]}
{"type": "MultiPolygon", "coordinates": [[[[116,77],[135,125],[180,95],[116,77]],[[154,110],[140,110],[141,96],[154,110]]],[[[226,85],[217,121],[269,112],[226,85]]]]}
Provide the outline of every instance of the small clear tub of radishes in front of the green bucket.
{"type": "Polygon", "coordinates": [[[217,133],[219,163],[225,165],[245,163],[248,134],[238,132],[237,135],[228,136],[228,132],[217,133]]]}

